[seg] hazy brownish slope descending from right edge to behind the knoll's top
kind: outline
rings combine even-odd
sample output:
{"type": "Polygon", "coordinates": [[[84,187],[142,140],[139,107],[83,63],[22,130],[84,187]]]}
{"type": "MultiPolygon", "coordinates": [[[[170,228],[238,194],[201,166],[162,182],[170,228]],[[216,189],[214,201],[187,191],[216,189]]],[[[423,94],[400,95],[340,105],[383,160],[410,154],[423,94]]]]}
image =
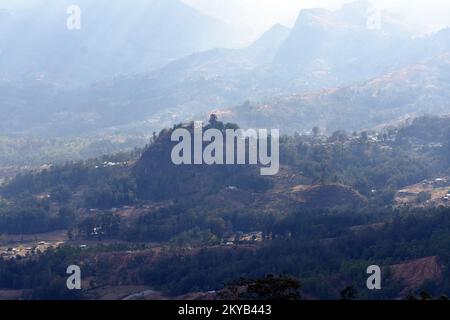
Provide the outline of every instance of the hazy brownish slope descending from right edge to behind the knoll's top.
{"type": "Polygon", "coordinates": [[[244,127],[304,132],[314,126],[371,130],[422,115],[450,113],[450,53],[339,89],[281,95],[261,103],[217,110],[244,127]]]}

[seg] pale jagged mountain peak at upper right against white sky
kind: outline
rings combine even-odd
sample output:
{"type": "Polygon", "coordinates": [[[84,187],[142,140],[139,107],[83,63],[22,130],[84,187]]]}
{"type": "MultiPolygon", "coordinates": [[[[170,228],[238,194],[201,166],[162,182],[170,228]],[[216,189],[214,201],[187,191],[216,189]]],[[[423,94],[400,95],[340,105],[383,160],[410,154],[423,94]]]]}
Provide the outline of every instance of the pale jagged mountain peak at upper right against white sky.
{"type": "Polygon", "coordinates": [[[321,61],[342,67],[349,61],[367,61],[366,57],[378,50],[397,50],[398,39],[406,43],[405,35],[394,22],[384,24],[366,0],[343,5],[336,11],[306,9],[300,12],[275,61],[305,67],[321,61]],[[388,46],[392,47],[386,49],[388,46]]]}

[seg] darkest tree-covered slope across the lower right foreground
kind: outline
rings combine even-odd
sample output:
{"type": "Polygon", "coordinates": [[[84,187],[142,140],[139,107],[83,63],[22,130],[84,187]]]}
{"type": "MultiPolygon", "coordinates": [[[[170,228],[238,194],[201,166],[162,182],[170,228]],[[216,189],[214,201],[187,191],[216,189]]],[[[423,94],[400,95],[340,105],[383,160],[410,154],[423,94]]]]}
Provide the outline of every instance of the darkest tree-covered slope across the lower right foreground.
{"type": "MultiPolygon", "coordinates": [[[[383,290],[369,292],[365,288],[366,268],[436,255],[444,266],[443,279],[427,283],[427,289],[434,295],[450,292],[450,209],[390,214],[392,222],[364,232],[350,231],[352,223],[347,228],[335,228],[337,218],[327,219],[325,214],[321,221],[310,225],[312,230],[329,230],[317,234],[317,239],[294,234],[277,236],[256,251],[205,249],[196,255],[175,254],[145,267],[142,280],[178,295],[217,289],[236,275],[257,278],[268,273],[288,274],[301,279],[303,292],[317,298],[336,299],[337,290],[342,289],[340,283],[354,283],[358,298],[392,299],[404,289],[401,281],[387,272],[383,290]]],[[[291,228],[285,228],[284,233],[291,228]]]]}

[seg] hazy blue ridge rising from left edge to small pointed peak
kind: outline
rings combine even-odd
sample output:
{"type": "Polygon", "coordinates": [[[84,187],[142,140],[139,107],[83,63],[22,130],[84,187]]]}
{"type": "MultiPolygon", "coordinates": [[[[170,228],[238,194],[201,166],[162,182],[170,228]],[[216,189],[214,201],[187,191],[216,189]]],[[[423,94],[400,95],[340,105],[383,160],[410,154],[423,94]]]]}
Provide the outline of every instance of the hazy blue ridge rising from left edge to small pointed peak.
{"type": "Polygon", "coordinates": [[[277,25],[243,49],[196,53],[151,73],[84,88],[35,79],[0,82],[0,110],[6,119],[0,134],[77,135],[141,123],[147,130],[157,129],[223,103],[238,104],[246,99],[241,78],[269,63],[288,33],[277,25]]]}

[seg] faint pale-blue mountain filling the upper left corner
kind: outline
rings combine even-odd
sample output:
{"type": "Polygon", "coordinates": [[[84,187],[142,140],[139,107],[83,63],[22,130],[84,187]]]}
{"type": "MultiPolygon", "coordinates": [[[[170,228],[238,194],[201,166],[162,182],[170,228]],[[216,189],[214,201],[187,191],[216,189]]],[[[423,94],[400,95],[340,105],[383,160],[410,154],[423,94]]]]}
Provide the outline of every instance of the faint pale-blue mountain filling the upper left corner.
{"type": "Polygon", "coordinates": [[[14,10],[0,4],[0,79],[86,85],[236,38],[231,26],[178,0],[79,0],[80,30],[66,27],[73,1],[27,3],[14,10]]]}

